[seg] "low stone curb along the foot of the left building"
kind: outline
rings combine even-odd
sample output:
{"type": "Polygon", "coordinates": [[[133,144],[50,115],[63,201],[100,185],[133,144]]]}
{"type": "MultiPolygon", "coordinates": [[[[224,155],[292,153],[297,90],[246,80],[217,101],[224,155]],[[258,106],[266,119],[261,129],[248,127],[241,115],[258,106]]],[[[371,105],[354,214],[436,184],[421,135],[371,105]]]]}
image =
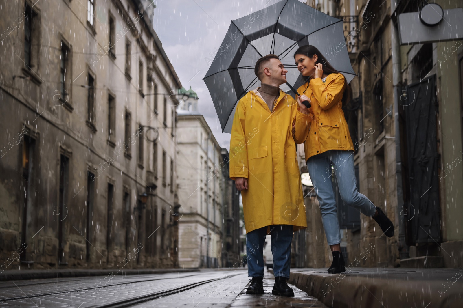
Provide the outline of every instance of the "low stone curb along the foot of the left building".
{"type": "Polygon", "coordinates": [[[113,269],[63,269],[63,270],[7,270],[0,273],[0,281],[46,279],[65,277],[85,276],[107,276],[114,275],[143,275],[143,274],[165,274],[177,272],[199,272],[198,268],[163,268],[163,269],[123,269],[119,272],[113,269]]]}

